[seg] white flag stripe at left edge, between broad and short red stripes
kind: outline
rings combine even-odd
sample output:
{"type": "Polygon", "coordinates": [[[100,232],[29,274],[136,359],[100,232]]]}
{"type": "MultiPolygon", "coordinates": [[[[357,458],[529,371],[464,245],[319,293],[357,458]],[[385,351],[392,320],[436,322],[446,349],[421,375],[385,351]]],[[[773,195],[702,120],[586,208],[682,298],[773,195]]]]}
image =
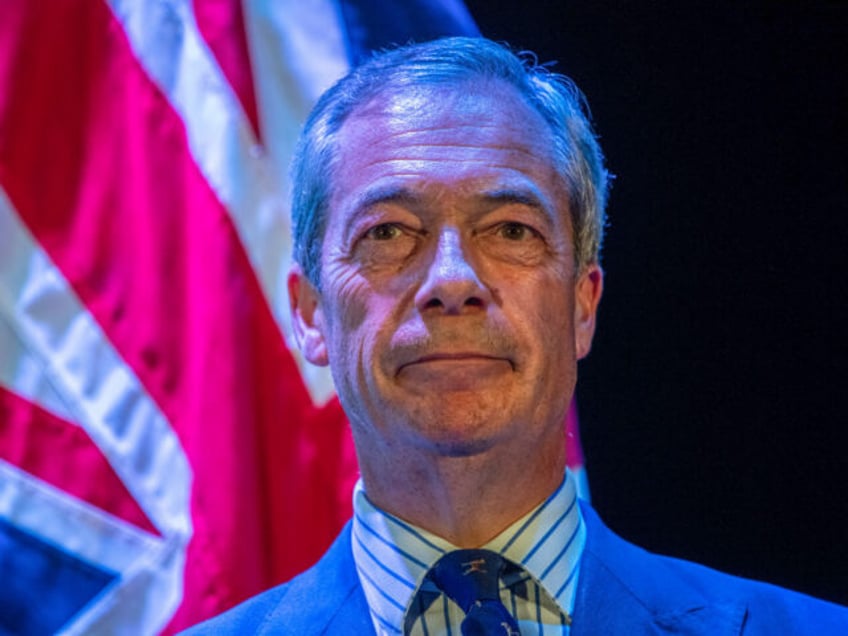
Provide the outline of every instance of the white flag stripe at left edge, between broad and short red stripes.
{"type": "Polygon", "coordinates": [[[176,434],[2,188],[0,321],[0,382],[82,426],[150,521],[187,542],[191,469],[176,434]]]}

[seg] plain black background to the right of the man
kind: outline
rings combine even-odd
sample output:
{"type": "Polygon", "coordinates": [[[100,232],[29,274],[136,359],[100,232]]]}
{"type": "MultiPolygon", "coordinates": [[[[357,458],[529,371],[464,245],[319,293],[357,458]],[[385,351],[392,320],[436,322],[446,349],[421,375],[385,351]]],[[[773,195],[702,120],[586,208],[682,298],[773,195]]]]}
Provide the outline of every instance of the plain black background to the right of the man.
{"type": "Polygon", "coordinates": [[[595,507],[848,604],[848,3],[467,5],[559,61],[617,175],[578,382],[595,507]]]}

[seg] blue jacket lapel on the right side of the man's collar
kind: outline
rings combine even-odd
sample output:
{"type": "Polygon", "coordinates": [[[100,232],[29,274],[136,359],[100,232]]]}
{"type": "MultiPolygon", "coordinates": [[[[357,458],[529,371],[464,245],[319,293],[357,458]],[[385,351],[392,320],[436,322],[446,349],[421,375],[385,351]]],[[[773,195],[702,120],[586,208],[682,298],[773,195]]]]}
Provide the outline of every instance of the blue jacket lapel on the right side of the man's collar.
{"type": "Polygon", "coordinates": [[[581,508],[587,540],[572,636],[740,633],[744,605],[707,599],[669,565],[677,562],[627,543],[591,507],[581,502],[581,508]]]}

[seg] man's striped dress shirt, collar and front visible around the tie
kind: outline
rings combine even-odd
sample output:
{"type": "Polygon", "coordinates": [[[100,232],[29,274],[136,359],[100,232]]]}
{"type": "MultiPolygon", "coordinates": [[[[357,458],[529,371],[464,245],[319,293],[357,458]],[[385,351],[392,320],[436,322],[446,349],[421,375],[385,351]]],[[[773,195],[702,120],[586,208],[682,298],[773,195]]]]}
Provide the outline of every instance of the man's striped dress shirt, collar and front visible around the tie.
{"type": "MultiPolygon", "coordinates": [[[[464,613],[425,578],[457,547],[374,506],[362,481],[353,495],[352,547],[377,634],[459,636],[464,613]]],[[[485,546],[517,568],[501,578],[501,600],[523,636],[568,634],[586,527],[575,478],[485,546]]]]}

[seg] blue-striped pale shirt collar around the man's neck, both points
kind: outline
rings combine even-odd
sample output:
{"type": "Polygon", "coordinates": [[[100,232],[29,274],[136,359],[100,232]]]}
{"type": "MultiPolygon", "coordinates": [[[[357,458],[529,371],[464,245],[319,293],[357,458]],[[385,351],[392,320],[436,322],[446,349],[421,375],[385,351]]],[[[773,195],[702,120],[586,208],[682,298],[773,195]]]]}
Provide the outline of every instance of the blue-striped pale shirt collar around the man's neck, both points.
{"type": "MultiPolygon", "coordinates": [[[[568,614],[586,542],[575,481],[566,470],[547,500],[482,546],[524,567],[568,614]]],[[[398,633],[424,575],[457,547],[374,506],[361,480],[353,510],[353,557],[375,626],[378,633],[398,633]]]]}

